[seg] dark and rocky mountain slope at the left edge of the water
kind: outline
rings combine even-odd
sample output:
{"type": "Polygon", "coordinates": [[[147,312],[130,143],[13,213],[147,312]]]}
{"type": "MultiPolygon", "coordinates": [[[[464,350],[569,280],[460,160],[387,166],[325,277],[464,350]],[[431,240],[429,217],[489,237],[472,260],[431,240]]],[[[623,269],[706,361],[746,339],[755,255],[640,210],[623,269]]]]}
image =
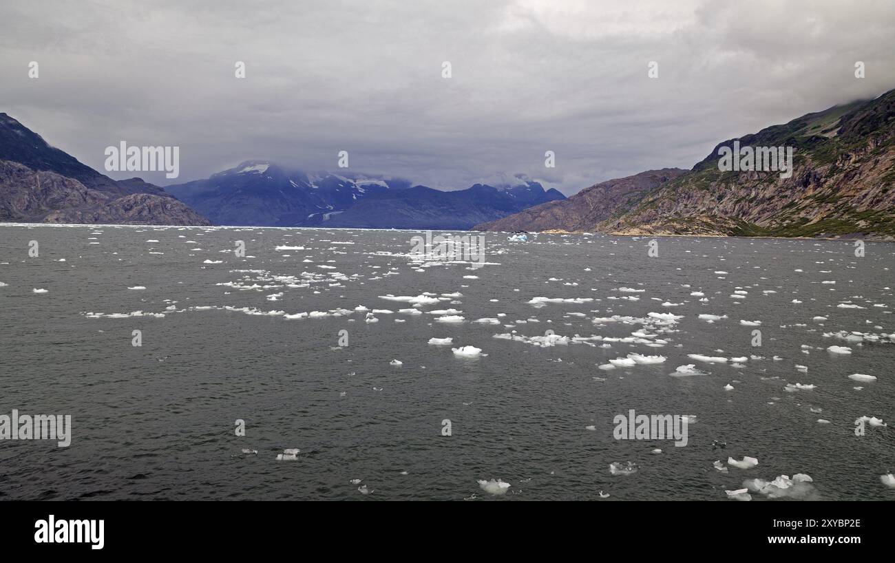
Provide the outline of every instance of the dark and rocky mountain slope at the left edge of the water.
{"type": "Polygon", "coordinates": [[[0,221],[209,225],[164,189],[115,181],[0,113],[0,221]]]}

